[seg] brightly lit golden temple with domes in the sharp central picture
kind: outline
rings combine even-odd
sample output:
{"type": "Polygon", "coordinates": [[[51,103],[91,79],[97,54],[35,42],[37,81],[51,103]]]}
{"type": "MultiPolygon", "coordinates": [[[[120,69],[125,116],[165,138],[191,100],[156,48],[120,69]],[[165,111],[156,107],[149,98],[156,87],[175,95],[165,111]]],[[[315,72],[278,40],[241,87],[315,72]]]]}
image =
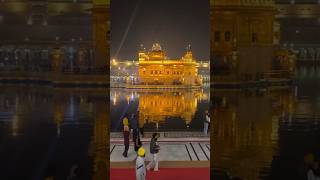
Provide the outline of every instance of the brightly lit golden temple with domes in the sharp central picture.
{"type": "Polygon", "coordinates": [[[154,43],[150,52],[139,51],[139,81],[154,85],[201,85],[197,62],[187,48],[181,59],[167,59],[160,44],[154,43]]]}

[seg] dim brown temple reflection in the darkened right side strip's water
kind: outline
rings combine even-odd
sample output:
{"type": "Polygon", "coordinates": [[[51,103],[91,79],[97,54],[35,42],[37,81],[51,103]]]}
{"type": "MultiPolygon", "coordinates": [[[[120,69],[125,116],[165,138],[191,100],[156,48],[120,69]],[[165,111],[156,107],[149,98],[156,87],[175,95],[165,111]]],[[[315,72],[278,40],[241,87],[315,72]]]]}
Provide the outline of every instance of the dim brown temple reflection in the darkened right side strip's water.
{"type": "MultiPolygon", "coordinates": [[[[243,179],[270,176],[279,153],[280,124],[290,121],[293,89],[214,92],[213,164],[243,179]]],[[[218,173],[219,174],[219,173],[218,173]]]]}

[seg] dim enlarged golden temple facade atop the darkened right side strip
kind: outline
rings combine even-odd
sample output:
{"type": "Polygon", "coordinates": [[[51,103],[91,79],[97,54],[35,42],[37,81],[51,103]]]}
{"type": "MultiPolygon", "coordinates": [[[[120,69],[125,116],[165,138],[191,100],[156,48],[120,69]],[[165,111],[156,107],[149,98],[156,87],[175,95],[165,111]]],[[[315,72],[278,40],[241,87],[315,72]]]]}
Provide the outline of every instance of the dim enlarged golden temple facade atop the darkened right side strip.
{"type": "Polygon", "coordinates": [[[271,0],[211,0],[213,69],[254,79],[271,71],[276,7],[271,0]],[[218,68],[217,67],[217,68],[218,68]]]}

